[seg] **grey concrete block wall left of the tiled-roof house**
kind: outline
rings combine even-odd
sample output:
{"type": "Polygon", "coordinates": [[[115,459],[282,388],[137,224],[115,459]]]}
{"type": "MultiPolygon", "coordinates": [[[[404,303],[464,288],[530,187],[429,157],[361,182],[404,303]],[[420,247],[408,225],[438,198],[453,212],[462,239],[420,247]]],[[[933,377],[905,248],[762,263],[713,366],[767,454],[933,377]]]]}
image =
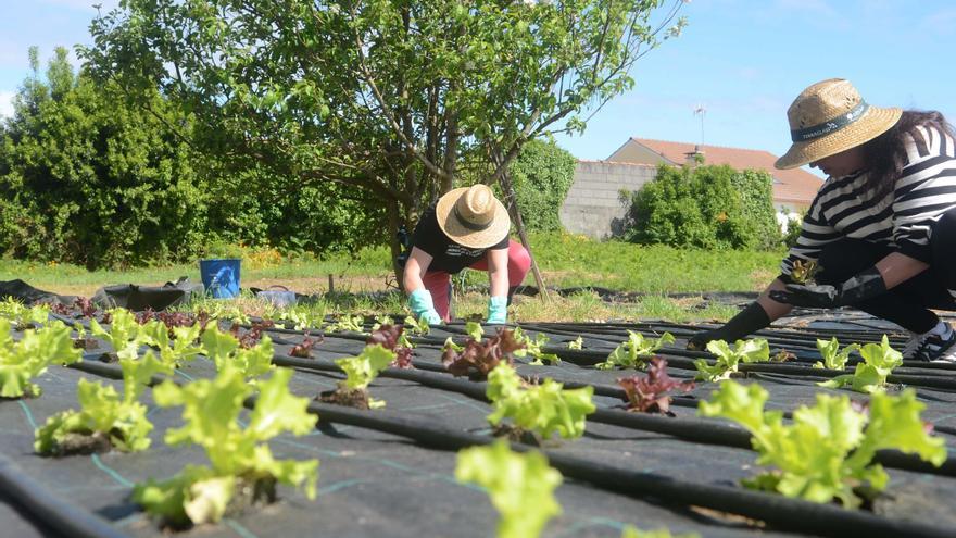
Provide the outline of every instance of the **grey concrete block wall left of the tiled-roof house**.
{"type": "Polygon", "coordinates": [[[656,166],[578,161],[575,183],[561,208],[561,223],[573,234],[604,239],[619,233],[627,205],[621,189],[636,191],[654,179],[656,166]]]}

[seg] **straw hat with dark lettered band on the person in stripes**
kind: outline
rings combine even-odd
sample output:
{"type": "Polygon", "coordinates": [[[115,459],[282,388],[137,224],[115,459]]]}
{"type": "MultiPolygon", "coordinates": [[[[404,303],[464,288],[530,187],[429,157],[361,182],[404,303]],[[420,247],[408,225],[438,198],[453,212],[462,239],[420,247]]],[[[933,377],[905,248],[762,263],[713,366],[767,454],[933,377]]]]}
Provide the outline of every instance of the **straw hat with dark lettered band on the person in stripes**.
{"type": "Polygon", "coordinates": [[[850,80],[817,83],[787,110],[793,146],[773,165],[795,168],[855,148],[889,130],[901,114],[901,109],[867,104],[850,80]]]}

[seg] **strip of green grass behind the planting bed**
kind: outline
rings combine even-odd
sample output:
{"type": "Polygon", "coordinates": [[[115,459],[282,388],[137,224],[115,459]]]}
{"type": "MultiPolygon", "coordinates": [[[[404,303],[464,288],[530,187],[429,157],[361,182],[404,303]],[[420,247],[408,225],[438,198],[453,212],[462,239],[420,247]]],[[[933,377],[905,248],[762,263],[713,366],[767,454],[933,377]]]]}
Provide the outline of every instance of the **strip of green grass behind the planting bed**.
{"type": "MultiPolygon", "coordinates": [[[[568,234],[532,234],[533,253],[550,287],[596,286],[619,291],[647,293],[634,303],[605,303],[593,293],[543,302],[518,297],[511,317],[517,321],[588,321],[666,318],[671,321],[726,320],[735,310],[705,305],[693,296],[675,299],[666,293],[703,291],[755,291],[763,289],[778,273],[780,252],[713,252],[663,246],[638,246],[620,241],[594,241],[568,234]]],[[[87,271],[68,264],[42,264],[0,260],[0,280],[21,278],[34,287],[63,295],[92,296],[105,285],[161,285],[188,276],[199,281],[198,263],[142,267],[128,271],[87,271]]],[[[275,250],[246,249],[242,257],[242,286],[267,288],[286,286],[300,293],[327,293],[329,280],[337,293],[324,296],[315,309],[329,314],[380,312],[398,313],[403,300],[394,293],[368,293],[394,289],[389,252],[385,247],[362,249],[354,257],[344,254],[315,258],[284,258],[275,250]]],[[[486,273],[466,271],[462,283],[485,286],[486,273]]],[[[531,274],[525,280],[534,284],[531,274]]],[[[457,299],[458,316],[483,315],[485,293],[464,293],[457,299]]],[[[235,305],[257,315],[269,305],[244,298],[235,305]]]]}

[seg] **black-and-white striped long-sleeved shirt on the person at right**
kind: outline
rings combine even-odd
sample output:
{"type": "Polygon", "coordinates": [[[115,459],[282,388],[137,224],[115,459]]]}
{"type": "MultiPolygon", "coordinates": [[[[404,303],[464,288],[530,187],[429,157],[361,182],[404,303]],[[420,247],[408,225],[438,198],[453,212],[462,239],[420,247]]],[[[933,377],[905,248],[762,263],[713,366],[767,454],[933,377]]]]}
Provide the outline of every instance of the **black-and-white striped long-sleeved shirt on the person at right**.
{"type": "Polygon", "coordinates": [[[790,275],[796,260],[815,261],[843,238],[863,239],[926,263],[932,262],[933,224],[956,208],[956,150],[949,135],[917,127],[904,137],[907,164],[892,192],[866,196],[866,173],[829,177],[810,203],[800,237],[780,264],[790,275]]]}

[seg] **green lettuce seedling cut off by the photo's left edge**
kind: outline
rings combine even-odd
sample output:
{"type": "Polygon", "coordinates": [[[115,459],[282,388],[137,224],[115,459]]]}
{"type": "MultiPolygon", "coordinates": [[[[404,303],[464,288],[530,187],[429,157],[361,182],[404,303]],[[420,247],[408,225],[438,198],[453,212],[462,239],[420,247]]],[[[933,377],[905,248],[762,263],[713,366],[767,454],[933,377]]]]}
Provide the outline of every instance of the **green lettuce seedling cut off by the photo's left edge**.
{"type": "Polygon", "coordinates": [[[74,348],[71,329],[54,321],[40,329],[27,329],[20,340],[10,334],[10,320],[0,317],[0,397],[40,396],[40,387],[30,383],[50,364],[72,364],[83,359],[74,348]]]}

